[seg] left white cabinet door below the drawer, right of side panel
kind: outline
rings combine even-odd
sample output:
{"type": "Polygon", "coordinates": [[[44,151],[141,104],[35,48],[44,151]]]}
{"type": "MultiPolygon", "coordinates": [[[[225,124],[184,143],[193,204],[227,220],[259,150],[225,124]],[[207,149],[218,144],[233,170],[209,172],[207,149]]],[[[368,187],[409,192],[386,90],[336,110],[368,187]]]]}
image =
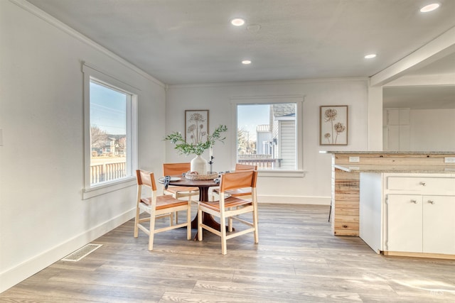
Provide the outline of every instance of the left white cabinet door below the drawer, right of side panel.
{"type": "Polygon", "coordinates": [[[387,196],[387,244],[389,251],[422,252],[422,196],[387,196]]]}

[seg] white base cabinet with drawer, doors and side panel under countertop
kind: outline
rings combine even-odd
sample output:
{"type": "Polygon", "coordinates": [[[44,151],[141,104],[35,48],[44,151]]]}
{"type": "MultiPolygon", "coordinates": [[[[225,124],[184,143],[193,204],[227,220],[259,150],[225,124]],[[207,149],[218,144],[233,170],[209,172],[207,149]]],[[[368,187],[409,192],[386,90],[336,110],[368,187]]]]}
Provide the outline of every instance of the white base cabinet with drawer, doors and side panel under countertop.
{"type": "Polygon", "coordinates": [[[378,253],[455,257],[453,173],[360,172],[359,213],[360,238],[378,253]]]}

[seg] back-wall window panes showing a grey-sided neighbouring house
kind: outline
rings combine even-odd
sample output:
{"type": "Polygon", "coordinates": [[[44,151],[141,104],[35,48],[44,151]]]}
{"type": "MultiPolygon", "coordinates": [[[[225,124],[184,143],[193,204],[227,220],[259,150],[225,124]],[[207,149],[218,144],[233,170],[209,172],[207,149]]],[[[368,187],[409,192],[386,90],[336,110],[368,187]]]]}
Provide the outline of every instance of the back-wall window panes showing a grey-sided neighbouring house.
{"type": "Polygon", "coordinates": [[[302,99],[235,100],[236,162],[259,170],[301,170],[302,99]]]}

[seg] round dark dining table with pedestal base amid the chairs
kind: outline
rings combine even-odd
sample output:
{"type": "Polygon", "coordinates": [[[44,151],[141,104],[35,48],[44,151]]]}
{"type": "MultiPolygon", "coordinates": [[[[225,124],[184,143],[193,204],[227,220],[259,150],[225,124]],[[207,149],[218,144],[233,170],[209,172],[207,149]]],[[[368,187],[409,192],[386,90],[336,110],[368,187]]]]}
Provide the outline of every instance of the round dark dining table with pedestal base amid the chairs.
{"type": "MultiPolygon", "coordinates": [[[[208,202],[208,189],[210,187],[218,187],[219,183],[215,182],[213,179],[209,180],[191,180],[187,179],[182,175],[171,175],[171,181],[169,185],[173,186],[185,186],[185,187],[198,187],[199,189],[199,200],[203,202],[208,202]],[[178,180],[177,180],[178,179],[178,180]]],[[[203,213],[203,224],[215,228],[218,231],[220,230],[220,224],[213,219],[213,216],[210,214],[203,213]]],[[[191,228],[198,228],[198,214],[191,221],[191,228]]],[[[226,226],[228,228],[228,226],[226,226]]],[[[227,230],[227,229],[226,229],[227,230]]]]}

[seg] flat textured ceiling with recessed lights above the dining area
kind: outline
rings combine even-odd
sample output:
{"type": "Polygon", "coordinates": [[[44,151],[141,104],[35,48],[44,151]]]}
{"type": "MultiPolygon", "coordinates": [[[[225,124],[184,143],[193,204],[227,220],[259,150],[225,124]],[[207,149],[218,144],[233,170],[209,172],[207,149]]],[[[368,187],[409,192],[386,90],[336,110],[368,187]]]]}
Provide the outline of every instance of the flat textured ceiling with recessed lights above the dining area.
{"type": "Polygon", "coordinates": [[[455,26],[453,0],[28,1],[164,84],[370,77],[455,26]]]}

